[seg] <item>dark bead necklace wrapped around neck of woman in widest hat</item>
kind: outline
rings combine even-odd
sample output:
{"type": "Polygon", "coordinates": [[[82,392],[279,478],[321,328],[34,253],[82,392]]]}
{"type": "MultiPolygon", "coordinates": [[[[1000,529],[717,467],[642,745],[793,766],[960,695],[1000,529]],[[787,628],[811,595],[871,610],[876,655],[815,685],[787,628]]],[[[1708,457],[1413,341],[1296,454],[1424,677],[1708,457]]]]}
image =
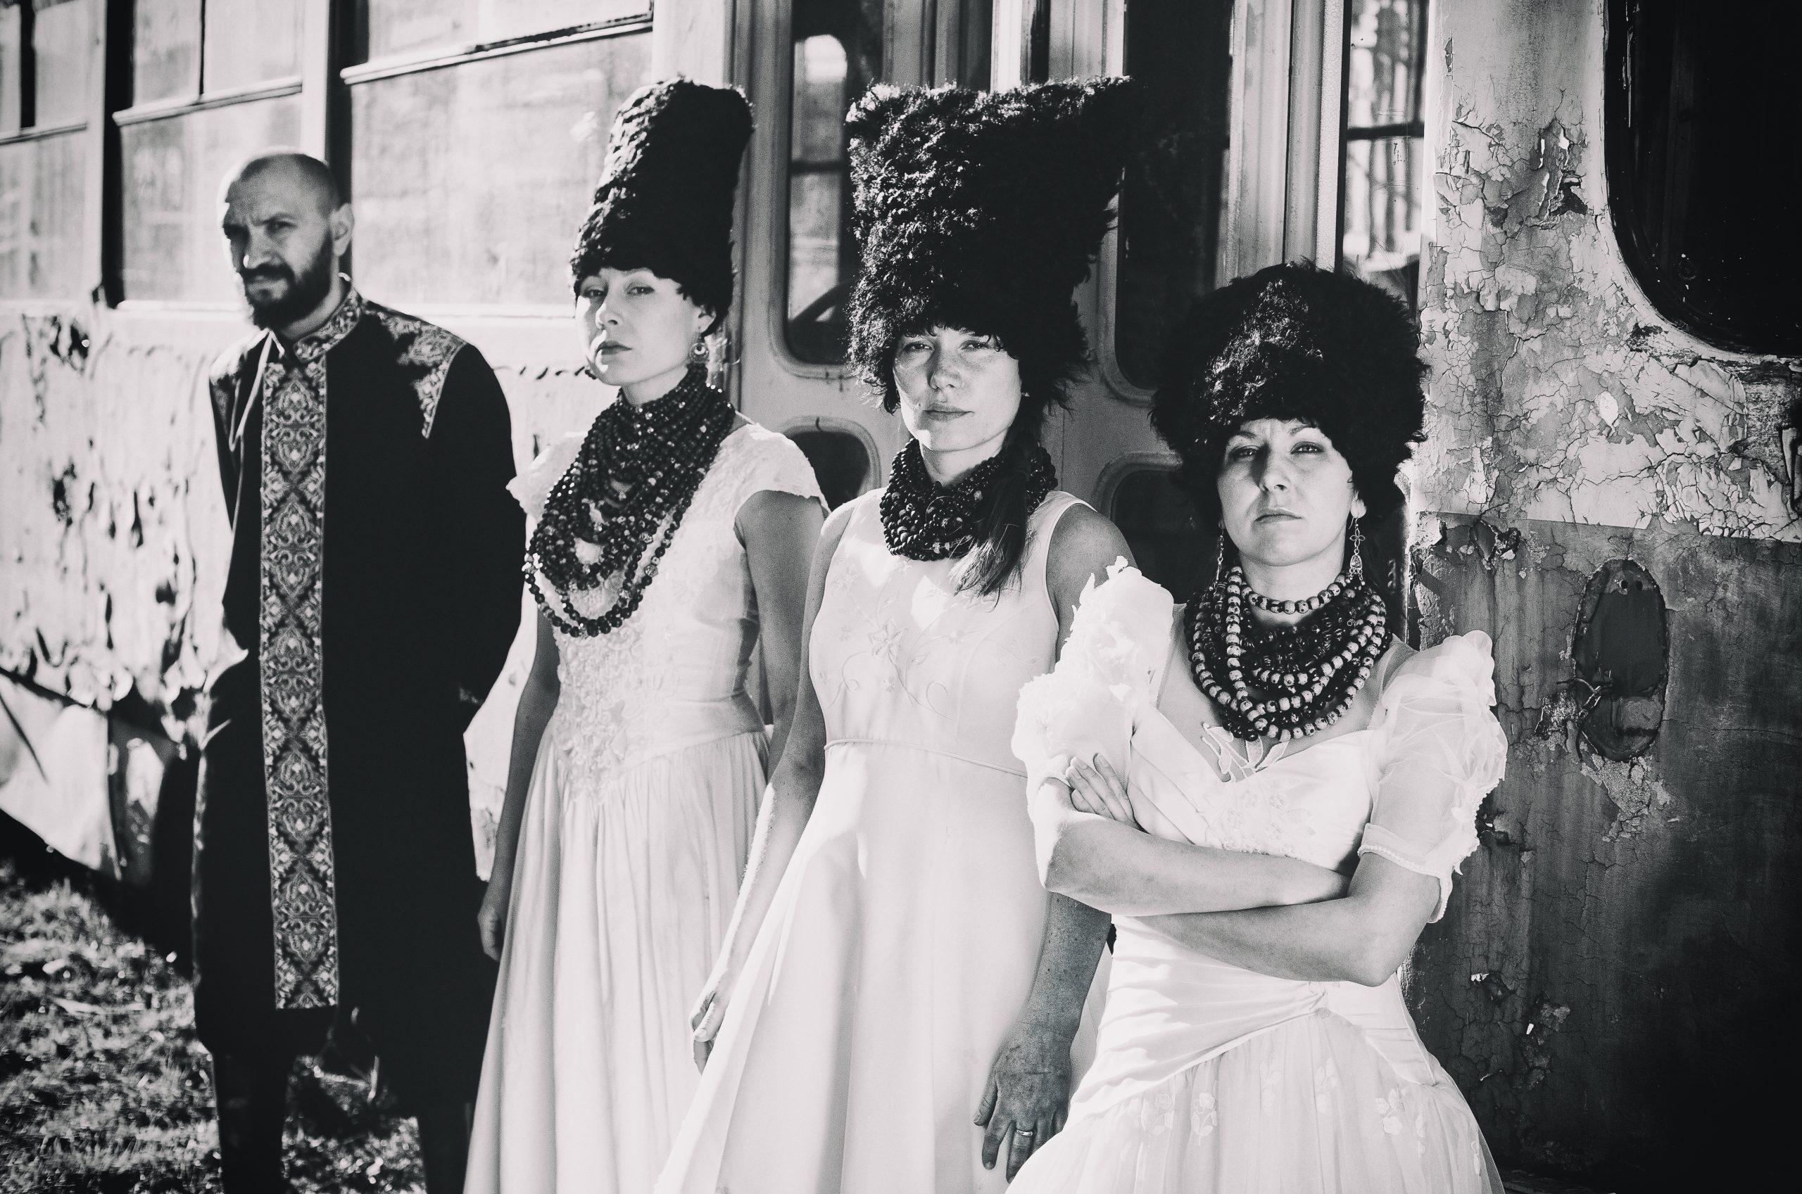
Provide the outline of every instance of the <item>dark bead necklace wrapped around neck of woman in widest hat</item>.
{"type": "Polygon", "coordinates": [[[1058,488],[1058,470],[1038,443],[1002,448],[951,486],[941,486],[926,472],[919,441],[896,454],[888,470],[888,488],[881,497],[883,542],[906,560],[944,560],[968,555],[982,535],[982,519],[995,501],[995,484],[1007,468],[1025,465],[1025,508],[1038,510],[1045,495],[1058,488]],[[1025,459],[1018,461],[1016,452],[1025,459]]]}

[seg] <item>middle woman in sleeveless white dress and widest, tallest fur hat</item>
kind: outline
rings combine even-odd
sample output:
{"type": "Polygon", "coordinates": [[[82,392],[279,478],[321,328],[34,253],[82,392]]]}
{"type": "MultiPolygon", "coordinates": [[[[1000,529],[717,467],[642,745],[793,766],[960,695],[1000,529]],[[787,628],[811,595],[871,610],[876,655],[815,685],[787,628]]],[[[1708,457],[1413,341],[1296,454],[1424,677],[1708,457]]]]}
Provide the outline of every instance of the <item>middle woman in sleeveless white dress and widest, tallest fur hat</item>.
{"type": "Polygon", "coordinates": [[[1002,1190],[1063,1118],[1106,918],[1040,886],[1007,740],[1124,549],[1038,443],[1083,357],[1070,292],[1121,99],[883,90],[851,112],[852,355],[914,441],[820,538],[795,729],[658,1190],[1002,1190]]]}

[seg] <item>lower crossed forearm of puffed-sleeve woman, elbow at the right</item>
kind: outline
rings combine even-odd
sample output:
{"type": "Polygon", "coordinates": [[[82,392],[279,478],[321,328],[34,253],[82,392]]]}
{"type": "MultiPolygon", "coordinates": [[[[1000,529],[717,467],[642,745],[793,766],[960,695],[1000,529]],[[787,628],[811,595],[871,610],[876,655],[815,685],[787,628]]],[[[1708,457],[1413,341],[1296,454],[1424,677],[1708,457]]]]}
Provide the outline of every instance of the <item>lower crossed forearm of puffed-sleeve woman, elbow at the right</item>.
{"type": "Polygon", "coordinates": [[[1150,917],[1150,927],[1220,962],[1274,978],[1377,987],[1407,958],[1440,897],[1440,881],[1366,854],[1342,899],[1150,917]]]}

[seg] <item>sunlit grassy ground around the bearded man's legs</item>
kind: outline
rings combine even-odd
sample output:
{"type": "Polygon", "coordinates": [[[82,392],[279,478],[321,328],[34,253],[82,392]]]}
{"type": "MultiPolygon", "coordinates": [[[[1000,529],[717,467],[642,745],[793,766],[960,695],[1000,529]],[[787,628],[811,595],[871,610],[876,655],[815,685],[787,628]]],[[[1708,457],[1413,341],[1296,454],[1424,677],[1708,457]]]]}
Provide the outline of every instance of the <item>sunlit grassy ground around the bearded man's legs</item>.
{"type": "MultiPolygon", "coordinates": [[[[213,1068],[177,954],[124,927],[128,893],[29,872],[0,859],[0,1194],[218,1190],[213,1068]]],[[[357,1070],[297,1063],[290,1183],[423,1189],[413,1120],[373,1106],[357,1070]]]]}

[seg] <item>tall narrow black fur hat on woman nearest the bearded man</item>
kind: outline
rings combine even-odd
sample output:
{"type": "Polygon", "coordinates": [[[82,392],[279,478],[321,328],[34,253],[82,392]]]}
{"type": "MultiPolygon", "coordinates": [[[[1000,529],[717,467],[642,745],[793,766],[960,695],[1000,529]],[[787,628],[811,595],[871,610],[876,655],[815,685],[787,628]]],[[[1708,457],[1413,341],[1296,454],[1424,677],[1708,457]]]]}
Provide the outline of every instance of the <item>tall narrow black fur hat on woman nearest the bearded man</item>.
{"type": "Polygon", "coordinates": [[[694,303],[732,306],[732,194],[751,106],[728,86],[665,79],[613,117],[595,204],[577,234],[575,283],[600,267],[647,268],[694,303]]]}

